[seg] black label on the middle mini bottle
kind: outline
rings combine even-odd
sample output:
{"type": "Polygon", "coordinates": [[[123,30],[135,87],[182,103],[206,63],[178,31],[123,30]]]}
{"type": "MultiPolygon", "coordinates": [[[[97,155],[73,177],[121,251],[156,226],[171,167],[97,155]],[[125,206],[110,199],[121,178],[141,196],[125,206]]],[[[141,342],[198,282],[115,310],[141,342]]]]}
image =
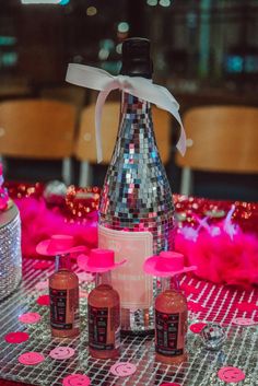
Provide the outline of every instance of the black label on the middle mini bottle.
{"type": "Polygon", "coordinates": [[[87,305],[89,346],[93,350],[114,350],[115,342],[108,343],[108,308],[87,305]]]}

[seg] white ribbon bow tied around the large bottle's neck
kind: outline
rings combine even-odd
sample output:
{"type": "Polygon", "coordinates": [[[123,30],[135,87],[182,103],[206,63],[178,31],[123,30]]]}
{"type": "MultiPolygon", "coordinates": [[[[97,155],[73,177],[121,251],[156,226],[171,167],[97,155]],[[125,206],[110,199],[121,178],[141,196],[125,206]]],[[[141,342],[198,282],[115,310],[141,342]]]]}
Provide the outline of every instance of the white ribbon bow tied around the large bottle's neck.
{"type": "Polygon", "coordinates": [[[169,112],[180,125],[180,137],[176,147],[181,155],[185,154],[186,133],[178,113],[179,105],[167,89],[154,84],[145,78],[125,75],[113,77],[102,69],[77,63],[70,63],[68,66],[66,81],[99,91],[95,108],[97,162],[102,162],[102,109],[107,95],[116,89],[122,90],[126,93],[129,93],[150,103],[154,103],[157,107],[169,112]]]}

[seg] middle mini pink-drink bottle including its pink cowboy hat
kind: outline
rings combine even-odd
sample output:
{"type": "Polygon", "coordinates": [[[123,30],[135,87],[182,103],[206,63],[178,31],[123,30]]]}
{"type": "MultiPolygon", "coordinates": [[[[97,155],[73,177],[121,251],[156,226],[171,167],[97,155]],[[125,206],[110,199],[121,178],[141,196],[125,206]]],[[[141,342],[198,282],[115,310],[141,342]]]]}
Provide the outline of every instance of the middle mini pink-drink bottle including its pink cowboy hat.
{"type": "Polygon", "coordinates": [[[115,262],[110,249],[92,249],[90,256],[80,255],[78,265],[95,272],[95,289],[87,299],[89,349],[94,358],[117,358],[120,352],[120,300],[112,286],[110,270],[126,260],[115,262]]]}

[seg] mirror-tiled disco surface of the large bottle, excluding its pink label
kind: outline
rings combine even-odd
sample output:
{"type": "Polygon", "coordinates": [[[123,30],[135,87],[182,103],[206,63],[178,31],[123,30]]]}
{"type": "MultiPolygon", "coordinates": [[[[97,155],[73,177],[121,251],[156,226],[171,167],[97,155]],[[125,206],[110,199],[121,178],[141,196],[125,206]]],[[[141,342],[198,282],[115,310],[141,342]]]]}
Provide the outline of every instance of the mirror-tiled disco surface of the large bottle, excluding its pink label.
{"type": "MultiPolygon", "coordinates": [[[[153,255],[173,248],[173,197],[156,147],[151,105],[127,93],[122,94],[120,125],[104,182],[98,222],[115,231],[151,232],[153,255]]],[[[155,294],[153,280],[153,300],[155,294]]],[[[152,306],[124,309],[121,302],[121,312],[124,316],[127,314],[126,324],[121,325],[124,331],[154,329],[152,306]]]]}

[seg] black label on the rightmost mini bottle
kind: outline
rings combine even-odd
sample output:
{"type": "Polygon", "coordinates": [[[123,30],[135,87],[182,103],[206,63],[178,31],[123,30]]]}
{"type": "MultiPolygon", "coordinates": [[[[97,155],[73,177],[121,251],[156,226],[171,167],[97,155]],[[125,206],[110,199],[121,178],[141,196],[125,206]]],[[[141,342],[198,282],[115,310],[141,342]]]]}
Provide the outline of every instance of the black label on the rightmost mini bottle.
{"type": "Polygon", "coordinates": [[[184,349],[178,348],[178,338],[181,340],[178,337],[179,319],[179,314],[166,314],[155,311],[155,351],[159,354],[165,356],[183,355],[184,349]]]}

